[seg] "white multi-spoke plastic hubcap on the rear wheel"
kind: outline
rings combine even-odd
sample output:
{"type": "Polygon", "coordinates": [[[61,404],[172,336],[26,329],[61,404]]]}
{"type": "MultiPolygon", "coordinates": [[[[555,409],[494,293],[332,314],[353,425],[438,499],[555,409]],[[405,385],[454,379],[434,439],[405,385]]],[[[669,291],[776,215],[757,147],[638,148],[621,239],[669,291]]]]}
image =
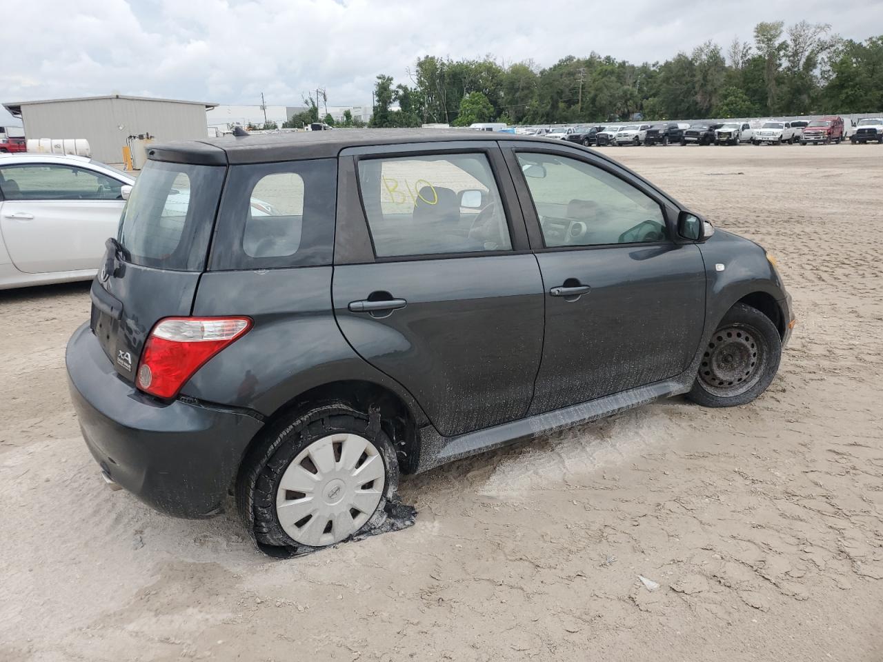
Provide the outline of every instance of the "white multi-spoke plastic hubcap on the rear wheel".
{"type": "Polygon", "coordinates": [[[329,434],[288,465],[276,491],[276,515],[301,545],[349,538],[374,515],[386,486],[380,451],[358,434],[329,434]]]}

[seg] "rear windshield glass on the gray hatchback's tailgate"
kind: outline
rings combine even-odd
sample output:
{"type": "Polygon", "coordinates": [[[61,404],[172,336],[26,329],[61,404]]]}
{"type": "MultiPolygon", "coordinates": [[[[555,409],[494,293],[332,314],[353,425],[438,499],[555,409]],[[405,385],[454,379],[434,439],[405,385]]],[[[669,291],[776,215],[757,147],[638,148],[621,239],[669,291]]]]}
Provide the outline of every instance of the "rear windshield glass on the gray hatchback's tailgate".
{"type": "Polygon", "coordinates": [[[143,267],[201,271],[221,197],[224,168],[148,161],[120,219],[127,260],[143,267]]]}

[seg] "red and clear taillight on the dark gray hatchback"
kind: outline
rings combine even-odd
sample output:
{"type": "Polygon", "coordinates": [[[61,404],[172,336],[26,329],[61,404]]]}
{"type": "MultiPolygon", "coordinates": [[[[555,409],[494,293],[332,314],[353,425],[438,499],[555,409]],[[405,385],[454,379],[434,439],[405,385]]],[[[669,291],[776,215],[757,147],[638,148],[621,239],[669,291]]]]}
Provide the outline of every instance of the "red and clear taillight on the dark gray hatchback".
{"type": "Polygon", "coordinates": [[[147,337],[136,383],[161,398],[177,395],[187,380],[252,327],[247,317],[167,317],[147,337]]]}

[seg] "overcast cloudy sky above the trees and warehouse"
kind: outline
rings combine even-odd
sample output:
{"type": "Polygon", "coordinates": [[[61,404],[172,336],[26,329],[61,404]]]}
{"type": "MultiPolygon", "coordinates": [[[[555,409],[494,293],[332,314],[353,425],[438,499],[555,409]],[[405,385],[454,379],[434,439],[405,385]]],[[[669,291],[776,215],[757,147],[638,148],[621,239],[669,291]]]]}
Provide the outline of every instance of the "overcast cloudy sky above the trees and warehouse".
{"type": "MultiPolygon", "coordinates": [[[[763,20],[883,33],[881,0],[4,0],[0,102],[138,94],[218,103],[370,103],[374,77],[406,80],[426,54],[554,64],[592,50],[663,61],[763,20]],[[7,6],[9,5],[9,6],[7,6]],[[617,15],[618,13],[618,15],[617,15]]],[[[0,108],[0,124],[9,122],[0,108]]]]}

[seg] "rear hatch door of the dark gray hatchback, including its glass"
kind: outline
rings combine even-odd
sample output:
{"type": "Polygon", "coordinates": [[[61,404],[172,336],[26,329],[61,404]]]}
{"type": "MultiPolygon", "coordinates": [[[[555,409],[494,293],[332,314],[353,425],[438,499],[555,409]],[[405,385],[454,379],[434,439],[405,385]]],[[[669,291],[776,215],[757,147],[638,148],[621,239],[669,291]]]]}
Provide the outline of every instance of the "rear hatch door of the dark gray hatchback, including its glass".
{"type": "Polygon", "coordinates": [[[90,326],[125,380],[156,322],[191,313],[225,172],[148,161],[132,188],[91,292],[90,326]]]}

